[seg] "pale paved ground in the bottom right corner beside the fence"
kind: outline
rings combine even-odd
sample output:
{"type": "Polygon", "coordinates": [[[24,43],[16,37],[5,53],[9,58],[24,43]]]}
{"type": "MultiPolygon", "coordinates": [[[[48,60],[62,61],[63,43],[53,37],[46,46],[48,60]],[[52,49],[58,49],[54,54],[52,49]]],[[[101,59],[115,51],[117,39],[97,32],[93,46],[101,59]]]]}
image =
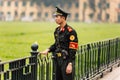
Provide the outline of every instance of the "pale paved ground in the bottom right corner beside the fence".
{"type": "Polygon", "coordinates": [[[112,72],[107,73],[99,80],[120,80],[120,67],[113,69],[112,72]]]}

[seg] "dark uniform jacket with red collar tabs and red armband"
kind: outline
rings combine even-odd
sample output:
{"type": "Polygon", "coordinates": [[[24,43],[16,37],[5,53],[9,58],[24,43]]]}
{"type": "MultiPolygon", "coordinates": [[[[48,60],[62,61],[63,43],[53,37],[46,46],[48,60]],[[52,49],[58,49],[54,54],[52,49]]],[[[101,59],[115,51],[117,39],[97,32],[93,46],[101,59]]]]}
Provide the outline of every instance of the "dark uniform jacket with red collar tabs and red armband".
{"type": "Polygon", "coordinates": [[[66,50],[69,55],[69,60],[75,59],[75,54],[78,49],[78,38],[76,31],[69,25],[65,25],[63,28],[58,26],[54,32],[55,42],[50,46],[50,52],[61,52],[66,50]]]}

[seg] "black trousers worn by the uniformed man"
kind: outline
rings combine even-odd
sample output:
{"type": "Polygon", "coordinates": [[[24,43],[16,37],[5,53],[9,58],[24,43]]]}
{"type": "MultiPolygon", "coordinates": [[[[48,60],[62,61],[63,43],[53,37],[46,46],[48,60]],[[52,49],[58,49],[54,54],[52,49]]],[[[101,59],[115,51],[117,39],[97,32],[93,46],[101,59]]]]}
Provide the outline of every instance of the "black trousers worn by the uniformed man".
{"type": "Polygon", "coordinates": [[[57,58],[54,60],[54,80],[74,80],[75,61],[72,61],[72,73],[66,74],[67,59],[57,58]]]}

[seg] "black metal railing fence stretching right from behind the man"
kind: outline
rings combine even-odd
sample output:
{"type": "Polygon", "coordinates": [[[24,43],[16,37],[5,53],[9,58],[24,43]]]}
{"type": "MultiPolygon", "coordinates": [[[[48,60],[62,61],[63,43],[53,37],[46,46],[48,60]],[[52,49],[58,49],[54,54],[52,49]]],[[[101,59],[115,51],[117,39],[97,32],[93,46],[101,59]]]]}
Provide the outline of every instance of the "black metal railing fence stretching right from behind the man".
{"type": "Polygon", "coordinates": [[[75,80],[102,77],[115,64],[120,65],[120,38],[82,45],[76,55],[75,80]]]}

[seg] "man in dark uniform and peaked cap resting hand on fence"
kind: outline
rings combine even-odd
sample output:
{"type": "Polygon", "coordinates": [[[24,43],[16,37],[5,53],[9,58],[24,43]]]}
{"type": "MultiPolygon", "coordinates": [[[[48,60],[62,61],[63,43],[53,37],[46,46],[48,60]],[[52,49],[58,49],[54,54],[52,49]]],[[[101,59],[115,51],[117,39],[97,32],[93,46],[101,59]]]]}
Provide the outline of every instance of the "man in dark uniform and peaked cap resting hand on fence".
{"type": "Polygon", "coordinates": [[[66,22],[69,13],[58,7],[56,9],[54,16],[59,26],[54,32],[55,42],[41,53],[53,52],[56,80],[74,80],[75,54],[78,48],[77,33],[66,22]]]}

